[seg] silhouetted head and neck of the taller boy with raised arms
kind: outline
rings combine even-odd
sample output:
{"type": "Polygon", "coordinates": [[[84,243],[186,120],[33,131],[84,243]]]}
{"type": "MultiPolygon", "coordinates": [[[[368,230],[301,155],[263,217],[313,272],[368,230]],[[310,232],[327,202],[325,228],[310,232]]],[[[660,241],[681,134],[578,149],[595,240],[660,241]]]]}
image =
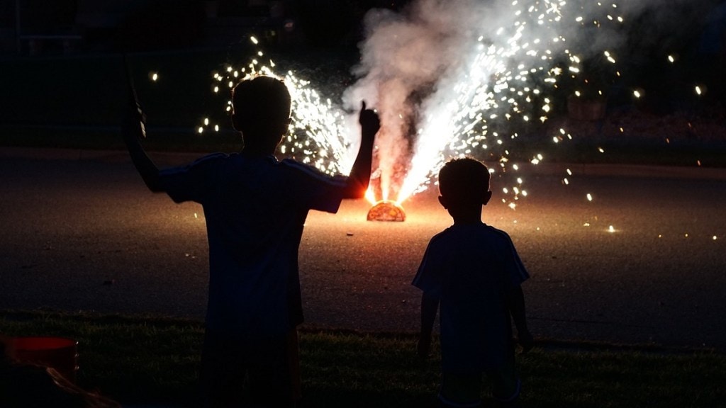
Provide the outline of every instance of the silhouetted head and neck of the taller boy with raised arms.
{"type": "Polygon", "coordinates": [[[245,149],[272,150],[290,124],[290,92],[277,78],[257,76],[232,89],[232,124],[242,132],[245,149]]]}

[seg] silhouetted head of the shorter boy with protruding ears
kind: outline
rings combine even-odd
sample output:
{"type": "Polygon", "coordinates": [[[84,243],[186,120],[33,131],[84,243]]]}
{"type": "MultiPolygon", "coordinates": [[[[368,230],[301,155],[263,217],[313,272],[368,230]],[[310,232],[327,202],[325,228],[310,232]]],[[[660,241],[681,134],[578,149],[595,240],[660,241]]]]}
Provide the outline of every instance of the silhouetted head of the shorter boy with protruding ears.
{"type": "Polygon", "coordinates": [[[439,171],[439,202],[449,213],[462,210],[481,211],[489,203],[489,169],[473,158],[456,158],[439,171]]]}

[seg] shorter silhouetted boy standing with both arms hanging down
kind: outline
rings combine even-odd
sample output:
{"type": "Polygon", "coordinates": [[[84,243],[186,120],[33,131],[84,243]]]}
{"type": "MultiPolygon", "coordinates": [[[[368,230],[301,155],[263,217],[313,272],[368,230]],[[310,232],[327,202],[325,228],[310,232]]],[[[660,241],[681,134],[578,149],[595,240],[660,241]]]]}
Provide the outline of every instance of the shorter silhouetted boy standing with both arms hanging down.
{"type": "Polygon", "coordinates": [[[509,235],[481,221],[481,206],[492,198],[484,163],[449,161],[439,172],[439,192],[454,225],[431,239],[413,280],[423,290],[418,354],[428,356],[441,303],[441,407],[481,407],[483,373],[494,400],[513,406],[521,382],[511,319],[529,351],[532,336],[520,286],[529,274],[509,235]]]}

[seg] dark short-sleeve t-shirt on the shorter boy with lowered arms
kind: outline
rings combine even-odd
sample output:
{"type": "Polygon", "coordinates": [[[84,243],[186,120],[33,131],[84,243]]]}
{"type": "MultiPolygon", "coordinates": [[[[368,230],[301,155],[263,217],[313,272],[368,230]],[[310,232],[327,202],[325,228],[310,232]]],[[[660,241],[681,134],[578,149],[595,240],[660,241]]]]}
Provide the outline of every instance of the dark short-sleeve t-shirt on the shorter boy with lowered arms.
{"type": "Polygon", "coordinates": [[[481,372],[503,364],[512,335],[506,293],[528,278],[499,229],[454,224],[431,239],[413,285],[440,300],[442,370],[481,372]]]}

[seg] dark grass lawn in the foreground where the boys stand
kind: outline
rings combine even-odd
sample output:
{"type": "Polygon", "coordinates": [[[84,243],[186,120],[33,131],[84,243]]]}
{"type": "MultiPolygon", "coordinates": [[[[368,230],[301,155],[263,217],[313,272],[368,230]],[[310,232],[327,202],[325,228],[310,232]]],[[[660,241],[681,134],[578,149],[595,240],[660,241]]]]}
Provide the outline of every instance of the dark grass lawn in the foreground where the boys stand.
{"type": "MultiPolygon", "coordinates": [[[[75,338],[79,385],[124,404],[184,406],[194,395],[202,322],[1,311],[0,333],[75,338]]],[[[417,359],[415,342],[405,333],[301,330],[303,406],[435,407],[439,356],[417,359]]],[[[524,406],[726,407],[726,356],[715,351],[561,346],[518,355],[524,406]]]]}

